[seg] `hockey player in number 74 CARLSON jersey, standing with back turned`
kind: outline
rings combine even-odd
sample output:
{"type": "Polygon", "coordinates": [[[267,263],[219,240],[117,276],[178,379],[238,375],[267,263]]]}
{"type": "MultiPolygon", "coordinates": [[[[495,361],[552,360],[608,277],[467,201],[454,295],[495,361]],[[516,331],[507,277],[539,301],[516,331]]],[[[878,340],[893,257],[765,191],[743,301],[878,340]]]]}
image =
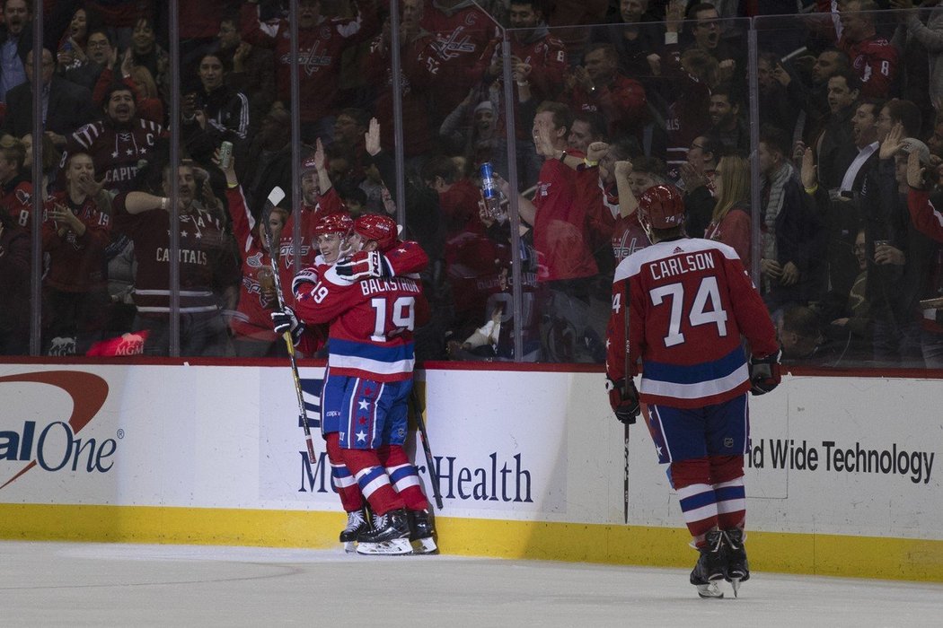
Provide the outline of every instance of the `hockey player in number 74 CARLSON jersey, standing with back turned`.
{"type": "Polygon", "coordinates": [[[680,192],[655,185],[637,212],[652,246],[616,268],[609,401],[625,424],[646,407],[659,462],[670,464],[671,485],[700,552],[691,584],[701,597],[722,597],[717,581],[727,579],[736,595],[750,577],[743,547],[747,392],[763,395],[779,384],[776,331],[736,251],[687,238],[680,192]],[[741,336],[750,345],[749,363],[741,336]]]}

